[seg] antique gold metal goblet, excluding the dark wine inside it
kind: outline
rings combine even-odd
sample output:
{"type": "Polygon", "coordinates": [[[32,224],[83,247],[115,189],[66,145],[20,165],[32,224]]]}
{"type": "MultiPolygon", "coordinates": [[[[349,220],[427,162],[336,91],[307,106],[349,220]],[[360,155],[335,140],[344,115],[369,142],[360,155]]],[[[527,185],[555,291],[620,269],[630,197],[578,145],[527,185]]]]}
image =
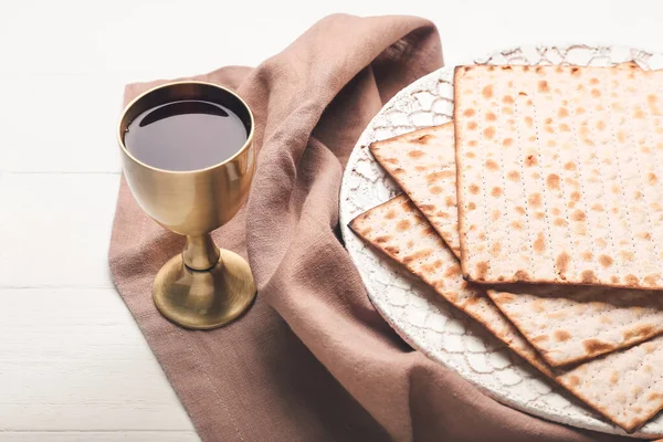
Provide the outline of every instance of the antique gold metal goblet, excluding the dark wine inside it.
{"type": "Polygon", "coordinates": [[[246,261],[220,250],[210,235],[246,200],[255,165],[253,133],[253,115],[246,103],[231,91],[203,82],[155,87],[129,103],[120,117],[118,140],[131,193],[156,222],[186,235],[182,253],[161,267],[152,290],[159,312],[182,327],[225,325],[246,311],[255,297],[246,261]],[[191,171],[159,169],[131,155],[124,141],[131,120],[145,110],[183,99],[211,102],[234,112],[246,129],[246,143],[229,159],[191,171]]]}

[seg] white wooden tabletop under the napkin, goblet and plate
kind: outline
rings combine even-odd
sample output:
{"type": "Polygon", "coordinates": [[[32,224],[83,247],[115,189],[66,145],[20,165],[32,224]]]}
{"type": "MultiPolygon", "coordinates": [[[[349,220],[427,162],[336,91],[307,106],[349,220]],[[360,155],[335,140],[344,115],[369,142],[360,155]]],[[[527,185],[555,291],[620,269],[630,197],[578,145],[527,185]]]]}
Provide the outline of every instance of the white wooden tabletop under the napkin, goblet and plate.
{"type": "Polygon", "coordinates": [[[0,0],[0,441],[198,440],[108,272],[123,85],[255,65],[336,11],[428,17],[448,64],[663,51],[657,0],[0,0]]]}

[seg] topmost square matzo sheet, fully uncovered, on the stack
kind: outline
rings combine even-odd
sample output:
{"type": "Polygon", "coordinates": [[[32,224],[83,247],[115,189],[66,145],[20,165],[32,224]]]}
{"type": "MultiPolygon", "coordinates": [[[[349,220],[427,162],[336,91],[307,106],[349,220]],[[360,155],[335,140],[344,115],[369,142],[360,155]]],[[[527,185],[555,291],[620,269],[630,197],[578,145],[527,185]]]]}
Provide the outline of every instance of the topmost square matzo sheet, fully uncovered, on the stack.
{"type": "Polygon", "coordinates": [[[660,72],[462,66],[454,86],[466,277],[663,288],[660,72]]]}

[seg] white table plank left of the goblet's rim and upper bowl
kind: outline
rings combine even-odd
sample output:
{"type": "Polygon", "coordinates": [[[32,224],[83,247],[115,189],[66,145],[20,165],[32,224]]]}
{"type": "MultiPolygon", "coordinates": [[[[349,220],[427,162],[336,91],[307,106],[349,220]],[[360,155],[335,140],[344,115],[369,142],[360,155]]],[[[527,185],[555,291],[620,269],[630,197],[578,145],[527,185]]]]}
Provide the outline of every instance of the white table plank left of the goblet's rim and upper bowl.
{"type": "Polygon", "coordinates": [[[0,96],[6,105],[0,106],[4,138],[0,170],[119,172],[115,130],[123,104],[120,78],[99,78],[99,75],[2,75],[1,78],[0,96]]]}

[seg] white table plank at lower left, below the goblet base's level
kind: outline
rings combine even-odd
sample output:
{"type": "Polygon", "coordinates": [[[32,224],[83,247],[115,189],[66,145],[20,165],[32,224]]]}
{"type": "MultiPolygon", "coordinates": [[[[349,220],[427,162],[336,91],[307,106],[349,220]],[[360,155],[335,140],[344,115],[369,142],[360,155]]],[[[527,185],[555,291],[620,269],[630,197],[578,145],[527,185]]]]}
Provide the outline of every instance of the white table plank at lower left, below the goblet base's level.
{"type": "Polygon", "coordinates": [[[0,290],[0,430],[192,431],[115,290],[0,290]]]}

